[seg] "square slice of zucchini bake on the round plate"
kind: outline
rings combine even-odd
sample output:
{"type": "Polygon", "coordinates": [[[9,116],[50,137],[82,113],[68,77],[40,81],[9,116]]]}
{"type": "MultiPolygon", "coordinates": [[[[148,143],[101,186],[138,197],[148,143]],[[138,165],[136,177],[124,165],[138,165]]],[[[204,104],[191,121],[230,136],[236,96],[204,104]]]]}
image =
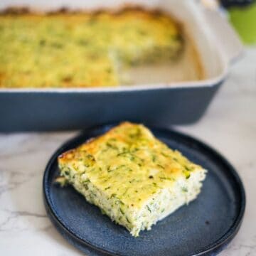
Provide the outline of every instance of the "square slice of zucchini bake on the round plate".
{"type": "Polygon", "coordinates": [[[134,236],[201,191],[206,170],[169,149],[142,124],[124,122],[58,158],[70,183],[134,236]]]}

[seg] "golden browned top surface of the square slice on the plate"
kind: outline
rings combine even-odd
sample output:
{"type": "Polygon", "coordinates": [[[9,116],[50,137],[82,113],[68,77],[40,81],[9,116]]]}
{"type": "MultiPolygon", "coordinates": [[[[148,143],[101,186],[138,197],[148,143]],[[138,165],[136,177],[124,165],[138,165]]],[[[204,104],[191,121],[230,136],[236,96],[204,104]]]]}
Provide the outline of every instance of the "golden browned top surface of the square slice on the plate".
{"type": "MultiPolygon", "coordinates": [[[[72,168],[85,181],[125,204],[141,206],[177,178],[201,170],[180,152],[169,149],[142,124],[123,122],[109,132],[65,152],[60,167],[72,168]]],[[[63,168],[61,168],[63,169],[63,168]]]]}

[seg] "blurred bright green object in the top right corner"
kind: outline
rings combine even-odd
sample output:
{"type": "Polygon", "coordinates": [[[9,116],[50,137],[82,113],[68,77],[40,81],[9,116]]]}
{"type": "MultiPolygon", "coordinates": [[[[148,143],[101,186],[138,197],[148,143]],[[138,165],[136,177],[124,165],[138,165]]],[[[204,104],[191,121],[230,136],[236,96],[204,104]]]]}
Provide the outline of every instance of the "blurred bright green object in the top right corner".
{"type": "Polygon", "coordinates": [[[256,44],[256,3],[228,9],[230,22],[245,44],[256,44]]]}

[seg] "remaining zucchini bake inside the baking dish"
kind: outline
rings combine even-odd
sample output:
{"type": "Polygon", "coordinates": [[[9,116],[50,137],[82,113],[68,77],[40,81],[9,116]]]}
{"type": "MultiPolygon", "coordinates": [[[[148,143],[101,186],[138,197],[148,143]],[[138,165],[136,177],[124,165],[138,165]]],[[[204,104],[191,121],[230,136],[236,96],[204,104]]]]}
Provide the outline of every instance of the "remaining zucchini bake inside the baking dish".
{"type": "Polygon", "coordinates": [[[176,58],[176,23],[159,11],[0,14],[0,87],[125,84],[120,70],[176,58]]]}

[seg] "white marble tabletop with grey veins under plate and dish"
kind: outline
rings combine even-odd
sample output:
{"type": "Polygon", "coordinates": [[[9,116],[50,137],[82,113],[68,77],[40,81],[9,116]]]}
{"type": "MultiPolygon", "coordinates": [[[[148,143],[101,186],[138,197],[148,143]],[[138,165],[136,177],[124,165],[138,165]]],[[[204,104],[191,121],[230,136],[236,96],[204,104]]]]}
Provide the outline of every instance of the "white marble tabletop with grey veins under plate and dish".
{"type": "MultiPolygon", "coordinates": [[[[256,48],[233,66],[203,119],[176,129],[212,145],[238,169],[245,218],[220,255],[256,255],[256,48]]],[[[0,255],[82,255],[53,228],[42,200],[46,163],[75,133],[0,134],[0,255]]]]}

